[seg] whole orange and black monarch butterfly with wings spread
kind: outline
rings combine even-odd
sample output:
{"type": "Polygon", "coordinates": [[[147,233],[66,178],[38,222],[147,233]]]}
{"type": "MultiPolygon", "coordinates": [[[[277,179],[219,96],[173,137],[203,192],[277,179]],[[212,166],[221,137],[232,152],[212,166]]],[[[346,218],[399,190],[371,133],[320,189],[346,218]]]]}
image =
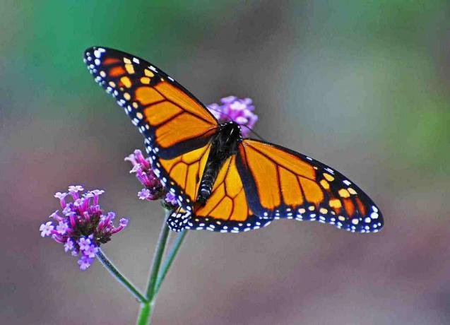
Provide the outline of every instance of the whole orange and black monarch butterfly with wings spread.
{"type": "Polygon", "coordinates": [[[359,187],[323,163],[288,148],[242,138],[166,73],[106,47],[85,64],[145,137],[163,186],[177,196],[171,230],[242,232],[274,219],[318,220],[351,232],[377,232],[383,217],[359,187]]]}

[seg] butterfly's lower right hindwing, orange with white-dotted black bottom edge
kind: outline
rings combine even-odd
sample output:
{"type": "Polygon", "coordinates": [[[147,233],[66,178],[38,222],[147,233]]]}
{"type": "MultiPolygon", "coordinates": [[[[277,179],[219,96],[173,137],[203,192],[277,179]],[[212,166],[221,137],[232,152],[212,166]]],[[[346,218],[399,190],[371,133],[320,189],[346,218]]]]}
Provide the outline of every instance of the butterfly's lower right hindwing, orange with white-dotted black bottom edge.
{"type": "Polygon", "coordinates": [[[263,220],[251,212],[242,179],[236,167],[236,155],[225,160],[218,172],[211,196],[204,206],[194,206],[194,213],[174,211],[167,225],[175,231],[206,229],[216,232],[242,232],[262,228],[263,220]]]}

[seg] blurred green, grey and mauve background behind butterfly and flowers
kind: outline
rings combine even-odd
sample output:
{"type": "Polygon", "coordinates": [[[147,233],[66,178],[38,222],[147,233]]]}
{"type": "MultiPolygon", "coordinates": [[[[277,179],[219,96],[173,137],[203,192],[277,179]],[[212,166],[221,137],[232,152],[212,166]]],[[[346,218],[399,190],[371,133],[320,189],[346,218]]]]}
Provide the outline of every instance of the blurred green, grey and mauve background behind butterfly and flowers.
{"type": "Polygon", "coordinates": [[[131,218],[105,252],[146,285],[162,222],[124,157],[143,141],[83,50],[155,63],[203,102],[254,99],[256,130],[365,189],[386,225],[357,235],[280,220],[190,232],[154,324],[450,323],[450,4],[7,1],[0,11],[0,323],[133,324],[138,305],[40,223],[69,184],[131,218]]]}

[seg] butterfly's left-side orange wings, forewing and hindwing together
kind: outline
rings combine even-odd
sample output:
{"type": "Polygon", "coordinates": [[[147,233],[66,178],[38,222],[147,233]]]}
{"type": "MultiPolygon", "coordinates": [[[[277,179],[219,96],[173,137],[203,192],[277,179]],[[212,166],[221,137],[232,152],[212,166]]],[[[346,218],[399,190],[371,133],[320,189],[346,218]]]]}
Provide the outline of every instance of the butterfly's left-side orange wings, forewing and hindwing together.
{"type": "Polygon", "coordinates": [[[131,54],[91,47],[84,61],[145,137],[162,184],[190,210],[218,129],[213,114],[167,73],[131,54]]]}

